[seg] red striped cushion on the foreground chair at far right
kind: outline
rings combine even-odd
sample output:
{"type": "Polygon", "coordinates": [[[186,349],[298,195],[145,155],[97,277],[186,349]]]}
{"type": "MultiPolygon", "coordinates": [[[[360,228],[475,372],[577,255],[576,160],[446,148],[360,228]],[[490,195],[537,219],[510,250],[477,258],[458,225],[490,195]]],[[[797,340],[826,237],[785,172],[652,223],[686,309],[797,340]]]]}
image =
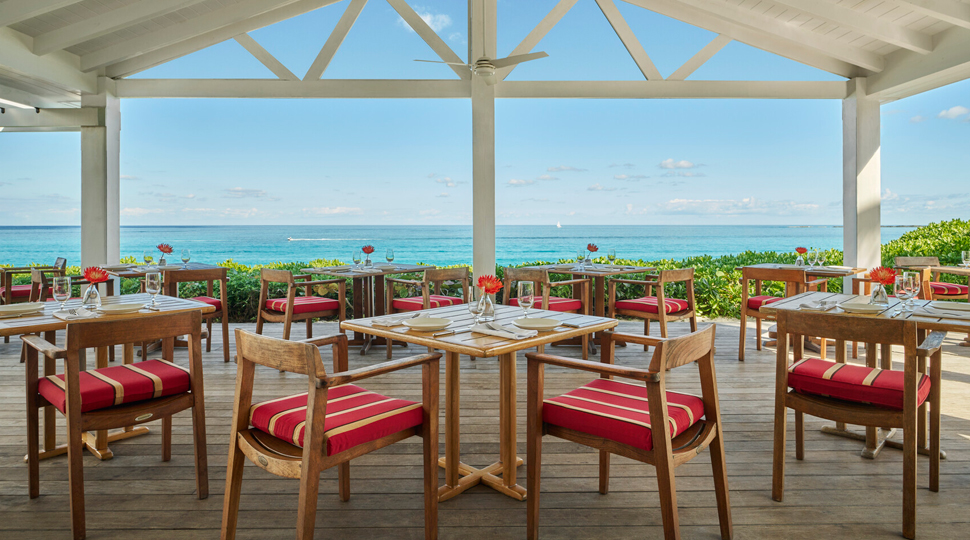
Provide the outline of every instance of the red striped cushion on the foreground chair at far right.
{"type": "MultiPolygon", "coordinates": [[[[788,386],[805,394],[871,403],[892,409],[903,408],[902,371],[807,358],[788,368],[788,386]]],[[[917,387],[917,404],[923,403],[929,393],[930,378],[921,375],[917,387]]]]}

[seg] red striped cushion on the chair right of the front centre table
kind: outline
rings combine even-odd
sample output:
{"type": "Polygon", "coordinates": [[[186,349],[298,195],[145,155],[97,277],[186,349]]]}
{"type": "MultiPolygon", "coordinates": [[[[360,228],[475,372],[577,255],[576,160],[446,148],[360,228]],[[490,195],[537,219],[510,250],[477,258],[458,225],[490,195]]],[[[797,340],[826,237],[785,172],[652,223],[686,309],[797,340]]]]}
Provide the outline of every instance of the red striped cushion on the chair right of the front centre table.
{"type": "MultiPolygon", "coordinates": [[[[671,437],[683,433],[704,416],[697,396],[667,392],[671,437]]],[[[572,392],[543,401],[543,422],[649,451],[650,404],[639,384],[595,379],[572,392]]]]}

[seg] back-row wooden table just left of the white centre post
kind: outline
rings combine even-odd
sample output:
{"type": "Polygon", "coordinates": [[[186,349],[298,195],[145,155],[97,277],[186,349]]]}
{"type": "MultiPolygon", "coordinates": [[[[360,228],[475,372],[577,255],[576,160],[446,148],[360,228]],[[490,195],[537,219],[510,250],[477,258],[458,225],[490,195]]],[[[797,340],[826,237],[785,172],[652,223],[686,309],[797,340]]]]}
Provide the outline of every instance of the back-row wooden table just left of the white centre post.
{"type": "MultiPolygon", "coordinates": [[[[378,263],[381,264],[381,263],[378,263]]],[[[424,272],[434,266],[419,264],[398,264],[393,268],[371,267],[327,267],[327,268],[303,268],[300,271],[306,274],[320,276],[349,277],[353,278],[353,303],[354,317],[380,317],[385,313],[384,305],[384,276],[393,274],[410,274],[412,272],[424,272]]],[[[349,345],[360,345],[360,354],[366,354],[372,345],[385,344],[383,338],[374,339],[372,334],[354,332],[354,337],[348,342],[349,345]]]]}

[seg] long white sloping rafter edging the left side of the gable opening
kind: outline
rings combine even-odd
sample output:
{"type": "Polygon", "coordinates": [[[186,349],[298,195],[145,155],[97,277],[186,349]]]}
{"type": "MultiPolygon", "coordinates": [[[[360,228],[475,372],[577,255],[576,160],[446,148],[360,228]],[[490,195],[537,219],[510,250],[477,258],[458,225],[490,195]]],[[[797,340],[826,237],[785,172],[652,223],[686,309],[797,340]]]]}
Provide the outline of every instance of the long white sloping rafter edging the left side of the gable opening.
{"type": "Polygon", "coordinates": [[[216,43],[232,39],[239,34],[263,28],[264,26],[302,15],[323,6],[335,4],[338,1],[300,0],[299,2],[287,4],[244,21],[209,30],[188,39],[182,39],[177,43],[153,50],[152,52],[111,64],[105,69],[105,75],[111,78],[128,77],[139,71],[157,66],[158,64],[169,62],[181,56],[215,45],[216,43]]]}

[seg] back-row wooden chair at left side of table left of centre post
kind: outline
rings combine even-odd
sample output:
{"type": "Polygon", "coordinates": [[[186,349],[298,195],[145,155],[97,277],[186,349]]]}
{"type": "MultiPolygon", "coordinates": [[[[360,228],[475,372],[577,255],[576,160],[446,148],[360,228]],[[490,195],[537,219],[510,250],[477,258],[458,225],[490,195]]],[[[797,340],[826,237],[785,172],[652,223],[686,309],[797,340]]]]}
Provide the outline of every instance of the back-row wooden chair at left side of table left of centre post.
{"type": "MultiPolygon", "coordinates": [[[[313,337],[313,319],[337,317],[343,321],[347,313],[347,281],[344,279],[320,279],[312,281],[310,275],[294,276],[289,270],[259,271],[262,286],[259,289],[259,312],[256,315],[256,333],[263,333],[263,323],[283,323],[283,339],[290,339],[290,326],[296,321],[306,321],[306,335],[313,337]],[[286,284],[286,298],[269,298],[269,284],[286,284]],[[337,284],[337,299],[313,295],[315,285],[337,284]],[[296,296],[299,288],[304,288],[303,296],[296,296]]],[[[343,330],[341,330],[343,332],[343,330]]]]}

